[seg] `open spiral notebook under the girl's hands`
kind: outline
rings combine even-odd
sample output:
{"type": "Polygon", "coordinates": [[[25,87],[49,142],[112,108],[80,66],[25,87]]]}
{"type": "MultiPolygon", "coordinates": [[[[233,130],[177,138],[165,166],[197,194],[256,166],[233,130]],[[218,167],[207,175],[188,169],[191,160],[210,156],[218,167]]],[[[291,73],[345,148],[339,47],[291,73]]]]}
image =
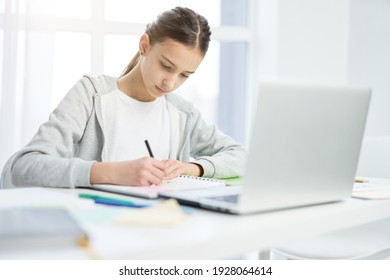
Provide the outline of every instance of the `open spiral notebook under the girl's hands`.
{"type": "Polygon", "coordinates": [[[214,178],[195,177],[187,175],[179,175],[173,180],[165,181],[158,186],[120,186],[97,184],[88,188],[98,191],[111,192],[117,194],[138,196],[142,198],[156,199],[164,192],[183,191],[183,190],[198,190],[204,188],[225,186],[224,181],[214,178]]]}

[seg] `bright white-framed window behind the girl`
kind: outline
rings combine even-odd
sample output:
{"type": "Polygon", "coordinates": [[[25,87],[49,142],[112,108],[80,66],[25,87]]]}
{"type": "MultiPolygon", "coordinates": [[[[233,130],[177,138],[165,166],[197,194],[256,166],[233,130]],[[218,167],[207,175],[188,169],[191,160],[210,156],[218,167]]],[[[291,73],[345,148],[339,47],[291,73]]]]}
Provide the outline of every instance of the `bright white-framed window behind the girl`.
{"type": "Polygon", "coordinates": [[[244,143],[252,2],[0,0],[0,114],[11,116],[11,124],[0,120],[2,133],[11,135],[0,143],[6,151],[0,153],[0,167],[83,74],[119,76],[136,53],[145,24],[175,6],[204,15],[213,32],[206,58],[179,93],[207,121],[244,143]]]}

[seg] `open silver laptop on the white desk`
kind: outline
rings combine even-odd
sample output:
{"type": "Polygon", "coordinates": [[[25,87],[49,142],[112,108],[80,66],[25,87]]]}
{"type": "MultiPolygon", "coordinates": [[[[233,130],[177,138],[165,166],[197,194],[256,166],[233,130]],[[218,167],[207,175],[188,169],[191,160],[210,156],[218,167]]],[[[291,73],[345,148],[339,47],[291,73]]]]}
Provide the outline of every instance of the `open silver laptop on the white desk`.
{"type": "Polygon", "coordinates": [[[242,186],[164,197],[234,214],[351,195],[370,89],[267,82],[260,87],[242,186]]]}

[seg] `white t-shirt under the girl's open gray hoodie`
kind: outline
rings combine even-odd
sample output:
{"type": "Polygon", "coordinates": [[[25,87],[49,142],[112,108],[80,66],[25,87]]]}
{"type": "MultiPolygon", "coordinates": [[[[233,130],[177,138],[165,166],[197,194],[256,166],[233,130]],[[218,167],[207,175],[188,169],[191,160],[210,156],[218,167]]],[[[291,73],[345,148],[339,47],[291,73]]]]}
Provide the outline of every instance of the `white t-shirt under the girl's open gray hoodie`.
{"type": "Polygon", "coordinates": [[[145,140],[156,159],[168,158],[170,121],[164,97],[141,102],[116,89],[102,96],[102,115],[103,161],[149,156],[145,140]]]}

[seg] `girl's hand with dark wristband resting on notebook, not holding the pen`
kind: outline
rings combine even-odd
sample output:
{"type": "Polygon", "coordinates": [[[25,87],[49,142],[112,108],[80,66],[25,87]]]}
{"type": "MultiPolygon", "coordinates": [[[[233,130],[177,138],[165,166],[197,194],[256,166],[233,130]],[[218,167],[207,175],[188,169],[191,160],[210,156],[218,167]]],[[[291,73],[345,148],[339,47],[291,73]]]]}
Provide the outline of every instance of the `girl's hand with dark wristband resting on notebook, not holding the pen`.
{"type": "Polygon", "coordinates": [[[179,175],[201,176],[203,169],[196,163],[186,163],[175,159],[162,161],[165,164],[164,180],[171,180],[179,175]]]}

